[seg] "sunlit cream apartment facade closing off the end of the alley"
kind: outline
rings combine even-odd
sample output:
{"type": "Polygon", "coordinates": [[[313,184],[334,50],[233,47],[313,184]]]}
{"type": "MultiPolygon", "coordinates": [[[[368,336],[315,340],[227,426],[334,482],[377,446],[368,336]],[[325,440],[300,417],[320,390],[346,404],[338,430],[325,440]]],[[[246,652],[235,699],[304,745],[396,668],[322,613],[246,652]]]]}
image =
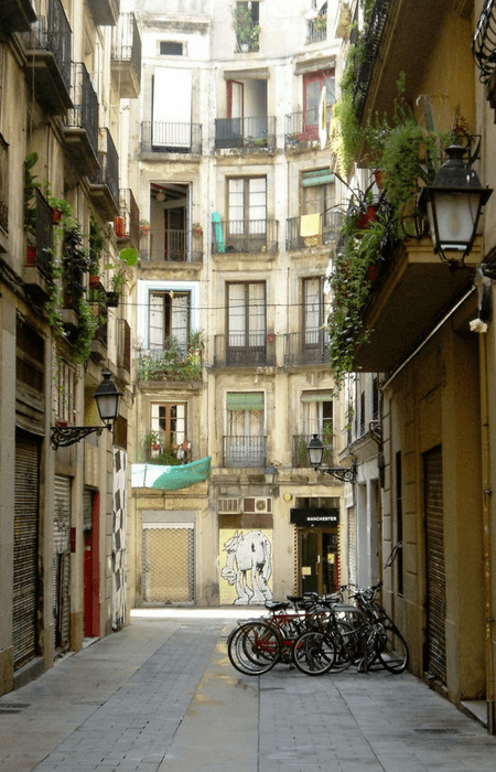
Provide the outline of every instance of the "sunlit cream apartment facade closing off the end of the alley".
{"type": "Polygon", "coordinates": [[[320,140],[335,98],[334,8],[133,8],[143,44],[133,154],[147,221],[134,603],[332,591],[346,575],[344,485],[310,468],[306,446],[316,435],[325,463],[337,463],[325,277],[341,212],[320,140]],[[177,460],[169,480],[152,482],[154,464],[177,460]]]}

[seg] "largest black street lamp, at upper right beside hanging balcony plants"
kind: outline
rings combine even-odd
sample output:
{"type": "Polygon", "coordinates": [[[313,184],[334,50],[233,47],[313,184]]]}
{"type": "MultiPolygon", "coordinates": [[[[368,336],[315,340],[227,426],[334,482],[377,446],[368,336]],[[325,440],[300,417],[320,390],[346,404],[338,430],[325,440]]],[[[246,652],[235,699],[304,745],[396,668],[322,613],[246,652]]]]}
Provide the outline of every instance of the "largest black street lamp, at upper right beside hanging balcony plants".
{"type": "Polygon", "coordinates": [[[493,190],[483,187],[476,172],[463,160],[466,148],[451,144],[432,185],[422,189],[419,204],[427,210],[434,253],[451,270],[463,266],[477,232],[481,210],[493,190]]]}

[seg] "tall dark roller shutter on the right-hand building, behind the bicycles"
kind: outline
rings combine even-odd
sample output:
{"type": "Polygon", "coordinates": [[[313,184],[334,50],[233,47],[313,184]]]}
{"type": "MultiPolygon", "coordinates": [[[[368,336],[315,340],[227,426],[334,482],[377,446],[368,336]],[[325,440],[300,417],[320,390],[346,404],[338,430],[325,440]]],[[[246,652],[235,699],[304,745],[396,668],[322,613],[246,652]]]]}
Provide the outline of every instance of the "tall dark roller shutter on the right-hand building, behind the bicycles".
{"type": "Polygon", "coordinates": [[[425,671],[446,683],[446,583],[444,570],[443,469],[441,448],[424,454],[427,640],[425,671]]]}

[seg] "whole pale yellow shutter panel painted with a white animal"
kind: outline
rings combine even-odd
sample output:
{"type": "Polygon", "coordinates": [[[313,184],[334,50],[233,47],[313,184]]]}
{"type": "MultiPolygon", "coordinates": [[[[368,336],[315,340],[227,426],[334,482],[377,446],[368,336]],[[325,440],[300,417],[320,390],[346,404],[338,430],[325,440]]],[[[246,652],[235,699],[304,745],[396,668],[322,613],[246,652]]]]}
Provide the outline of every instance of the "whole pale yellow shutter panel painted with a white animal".
{"type": "Polygon", "coordinates": [[[272,532],[220,528],[220,603],[260,605],[272,599],[272,532]]]}

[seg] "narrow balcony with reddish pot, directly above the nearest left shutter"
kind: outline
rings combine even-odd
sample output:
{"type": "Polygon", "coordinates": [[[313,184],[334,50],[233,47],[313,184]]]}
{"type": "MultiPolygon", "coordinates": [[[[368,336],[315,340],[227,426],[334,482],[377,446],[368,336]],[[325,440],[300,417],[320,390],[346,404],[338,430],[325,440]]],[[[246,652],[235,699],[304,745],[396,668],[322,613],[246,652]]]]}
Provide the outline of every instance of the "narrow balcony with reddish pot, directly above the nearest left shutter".
{"type": "Polygon", "coordinates": [[[52,286],[53,214],[37,189],[33,219],[22,277],[30,292],[42,299],[48,296],[52,286]]]}

